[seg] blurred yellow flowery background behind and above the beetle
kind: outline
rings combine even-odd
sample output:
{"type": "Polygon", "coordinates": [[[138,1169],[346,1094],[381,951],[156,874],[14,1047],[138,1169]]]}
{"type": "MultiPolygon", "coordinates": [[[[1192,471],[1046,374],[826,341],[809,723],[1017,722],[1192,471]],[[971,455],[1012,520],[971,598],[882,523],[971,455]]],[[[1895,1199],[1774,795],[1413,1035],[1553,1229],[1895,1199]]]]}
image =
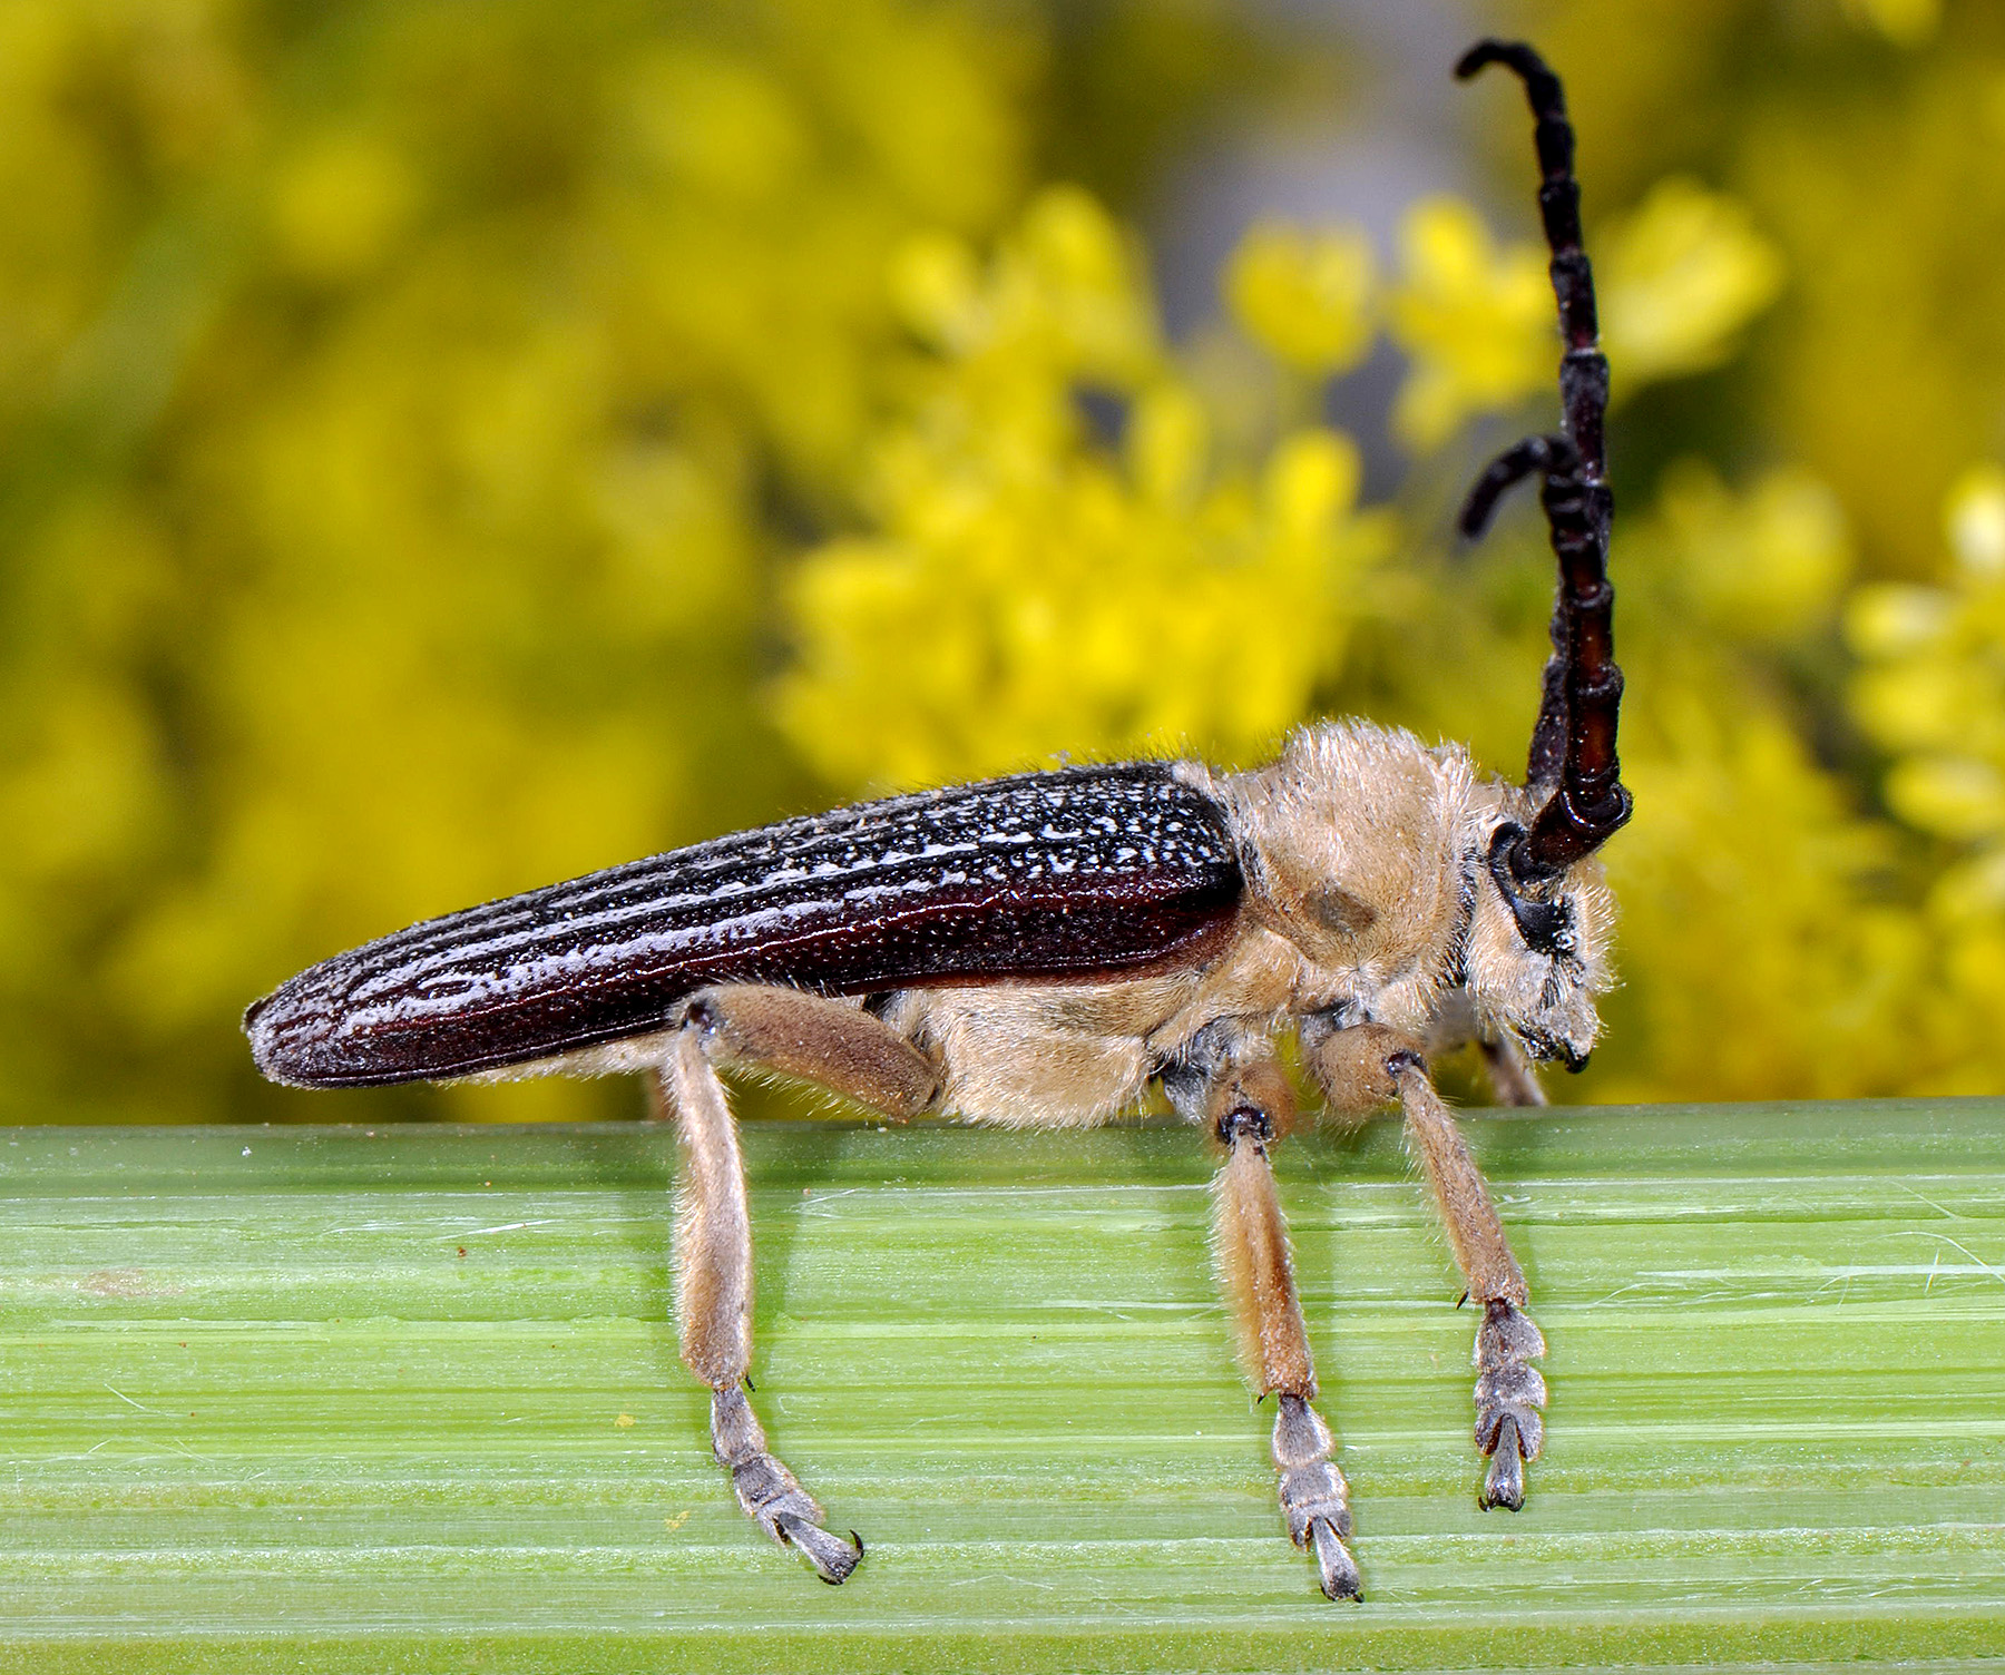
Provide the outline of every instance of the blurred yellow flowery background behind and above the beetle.
{"type": "Polygon", "coordinates": [[[1566,1098],[1999,1092],[2005,8],[10,0],[0,1120],[261,1084],[409,920],[892,787],[1520,773],[1532,36],[1618,407],[1624,988],[1566,1098]]]}

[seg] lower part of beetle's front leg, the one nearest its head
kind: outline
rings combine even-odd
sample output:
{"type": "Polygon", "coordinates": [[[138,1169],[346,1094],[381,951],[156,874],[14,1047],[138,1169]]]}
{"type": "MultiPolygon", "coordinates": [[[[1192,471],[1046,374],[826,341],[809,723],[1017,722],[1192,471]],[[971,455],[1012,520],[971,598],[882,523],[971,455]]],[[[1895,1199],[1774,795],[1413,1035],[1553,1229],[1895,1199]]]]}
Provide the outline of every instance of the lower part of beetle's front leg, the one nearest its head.
{"type": "Polygon", "coordinates": [[[1516,1513],[1524,1505],[1526,1461],[1538,1459],[1546,1439],[1540,1417],[1546,1380],[1532,1366],[1546,1352],[1546,1340],[1524,1312],[1524,1270],[1510,1254],[1462,1130],[1428,1082],[1426,1064],[1418,1054],[1399,1054],[1387,1070],[1399,1088],[1408,1144],[1428,1172],[1456,1266],[1484,1308],[1476,1328],[1476,1447],[1490,1457],[1490,1471],[1478,1499],[1484,1507],[1516,1513]]]}

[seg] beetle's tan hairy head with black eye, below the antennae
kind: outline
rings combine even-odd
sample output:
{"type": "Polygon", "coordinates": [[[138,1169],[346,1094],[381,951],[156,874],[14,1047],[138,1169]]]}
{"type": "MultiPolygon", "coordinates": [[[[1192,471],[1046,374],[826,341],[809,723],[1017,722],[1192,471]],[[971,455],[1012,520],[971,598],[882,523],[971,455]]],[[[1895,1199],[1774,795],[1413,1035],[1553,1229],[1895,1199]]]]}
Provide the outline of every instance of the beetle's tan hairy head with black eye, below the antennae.
{"type": "Polygon", "coordinates": [[[1614,900],[1592,856],[1520,878],[1510,858],[1522,840],[1518,821],[1502,821],[1476,866],[1468,990],[1484,1020],[1510,1030],[1532,1058],[1580,1070],[1602,1028],[1594,996],[1612,984],[1614,900]]]}

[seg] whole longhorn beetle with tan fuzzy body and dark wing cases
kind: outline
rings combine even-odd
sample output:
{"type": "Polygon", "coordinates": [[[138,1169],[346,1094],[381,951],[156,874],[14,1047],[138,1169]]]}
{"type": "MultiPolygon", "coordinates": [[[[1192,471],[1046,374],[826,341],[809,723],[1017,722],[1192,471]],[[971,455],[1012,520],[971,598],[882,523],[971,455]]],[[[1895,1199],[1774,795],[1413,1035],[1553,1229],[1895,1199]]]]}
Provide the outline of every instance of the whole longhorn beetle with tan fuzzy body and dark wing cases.
{"type": "Polygon", "coordinates": [[[1357,1599],[1351,1513],[1267,1150],[1293,1120],[1275,1034],[1295,1030],[1329,1110],[1397,1102],[1470,1296],[1484,1507],[1524,1505],[1546,1344],[1426,1054],[1482,1044],[1502,1098],[1520,1056],[1578,1070],[1600,1028],[1612,906],[1594,852],[1630,815],[1606,577],[1608,363],[1580,248],[1560,82],[1484,40],[1536,118],[1538,192],[1566,339],[1562,429],[1498,457],[1462,509],[1482,533],[1542,479],[1560,563],[1554,653],[1526,783],[1367,721],[1293,733],[1249,773],[1135,761],[1023,773],[786,819],[385,936],[245,1016],[259,1068],[309,1088],[646,1072],[682,1142],[682,1358],[744,1511],[828,1583],[862,1557],[772,1455],[746,1399],[752,1234],[720,1070],[820,1084],[894,1116],[1089,1126],[1159,1082],[1223,1150],[1215,1234],[1239,1350],[1275,1394],[1273,1463],[1329,1599],[1357,1599]]]}

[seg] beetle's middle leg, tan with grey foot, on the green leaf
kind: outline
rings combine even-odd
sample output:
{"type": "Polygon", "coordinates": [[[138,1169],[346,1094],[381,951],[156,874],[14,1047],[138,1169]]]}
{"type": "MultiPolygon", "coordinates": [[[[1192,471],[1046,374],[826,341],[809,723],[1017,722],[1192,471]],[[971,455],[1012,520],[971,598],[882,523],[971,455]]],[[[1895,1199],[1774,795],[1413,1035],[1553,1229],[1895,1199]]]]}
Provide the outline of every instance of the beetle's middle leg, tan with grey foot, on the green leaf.
{"type": "MultiPolygon", "coordinates": [[[[1193,1078],[1195,1080],[1195,1078],[1193,1078]]],[[[1195,1106],[1193,1086],[1171,1086],[1195,1106]]],[[[1277,1397],[1273,1469],[1289,1539],[1311,1553],[1329,1599],[1363,1599],[1357,1561],[1343,1545],[1351,1533],[1349,1485],[1331,1461],[1335,1441],[1315,1401],[1315,1356],[1295,1296],[1287,1222],[1275,1194],[1267,1148],[1287,1132],[1295,1100],[1271,1042],[1243,1036],[1209,1066],[1203,1118],[1225,1146],[1213,1180],[1219,1276],[1231,1300],[1239,1360],[1261,1397],[1277,1397]]]]}

